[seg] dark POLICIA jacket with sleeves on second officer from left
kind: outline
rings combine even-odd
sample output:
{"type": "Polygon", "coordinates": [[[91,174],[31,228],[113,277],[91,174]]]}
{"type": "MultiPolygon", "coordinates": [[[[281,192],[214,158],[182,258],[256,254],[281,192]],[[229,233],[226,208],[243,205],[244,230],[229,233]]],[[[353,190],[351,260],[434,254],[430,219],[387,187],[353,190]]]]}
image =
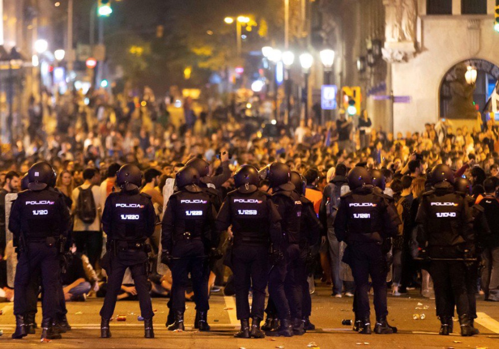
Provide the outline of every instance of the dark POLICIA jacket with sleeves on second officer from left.
{"type": "Polygon", "coordinates": [[[145,241],[154,233],[156,213],[151,196],[139,190],[112,192],[102,212],[108,240],[145,241]]]}

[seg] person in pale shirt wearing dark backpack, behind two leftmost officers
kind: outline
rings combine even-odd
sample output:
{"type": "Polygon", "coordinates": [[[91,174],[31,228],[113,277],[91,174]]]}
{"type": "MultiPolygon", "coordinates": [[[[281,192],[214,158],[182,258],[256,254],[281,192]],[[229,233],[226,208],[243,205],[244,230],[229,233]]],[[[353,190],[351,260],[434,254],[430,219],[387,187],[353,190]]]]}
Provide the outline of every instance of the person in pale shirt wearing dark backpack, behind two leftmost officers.
{"type": "Polygon", "coordinates": [[[83,180],[83,184],[73,189],[73,241],[95,268],[102,251],[99,170],[85,169],[83,180]]]}

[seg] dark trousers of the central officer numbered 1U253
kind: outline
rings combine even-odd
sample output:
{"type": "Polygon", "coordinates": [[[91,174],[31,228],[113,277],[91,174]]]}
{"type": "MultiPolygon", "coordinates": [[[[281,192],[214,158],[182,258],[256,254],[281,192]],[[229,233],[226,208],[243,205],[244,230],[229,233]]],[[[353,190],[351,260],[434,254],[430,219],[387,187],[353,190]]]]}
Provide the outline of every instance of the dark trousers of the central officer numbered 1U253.
{"type": "Polygon", "coordinates": [[[236,289],[236,312],[238,320],[263,319],[265,288],[267,287],[268,247],[265,245],[239,245],[232,251],[234,286],[236,289]],[[253,300],[248,301],[250,286],[253,300]]]}

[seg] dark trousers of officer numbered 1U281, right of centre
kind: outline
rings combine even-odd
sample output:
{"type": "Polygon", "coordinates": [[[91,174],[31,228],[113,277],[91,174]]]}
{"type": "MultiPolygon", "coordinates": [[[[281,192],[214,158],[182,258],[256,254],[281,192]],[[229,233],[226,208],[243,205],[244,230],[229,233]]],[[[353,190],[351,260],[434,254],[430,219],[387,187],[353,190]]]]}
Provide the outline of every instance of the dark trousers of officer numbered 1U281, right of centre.
{"type": "Polygon", "coordinates": [[[374,290],[376,319],[388,315],[386,300],[386,263],[381,248],[376,243],[352,245],[352,275],[355,280],[355,311],[361,319],[371,315],[369,307],[369,276],[374,290]]]}

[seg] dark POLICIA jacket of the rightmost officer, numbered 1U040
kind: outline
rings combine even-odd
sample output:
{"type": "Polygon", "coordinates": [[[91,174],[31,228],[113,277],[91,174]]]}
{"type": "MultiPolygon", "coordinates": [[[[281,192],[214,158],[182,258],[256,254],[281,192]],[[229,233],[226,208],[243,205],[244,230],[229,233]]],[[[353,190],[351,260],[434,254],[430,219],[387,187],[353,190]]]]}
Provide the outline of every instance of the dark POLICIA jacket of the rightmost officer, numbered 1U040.
{"type": "Polygon", "coordinates": [[[462,249],[474,240],[473,217],[465,195],[455,192],[448,182],[434,187],[422,195],[416,215],[416,223],[421,226],[418,243],[422,248],[429,248],[430,257],[432,251],[433,257],[437,257],[438,249],[462,249]]]}

